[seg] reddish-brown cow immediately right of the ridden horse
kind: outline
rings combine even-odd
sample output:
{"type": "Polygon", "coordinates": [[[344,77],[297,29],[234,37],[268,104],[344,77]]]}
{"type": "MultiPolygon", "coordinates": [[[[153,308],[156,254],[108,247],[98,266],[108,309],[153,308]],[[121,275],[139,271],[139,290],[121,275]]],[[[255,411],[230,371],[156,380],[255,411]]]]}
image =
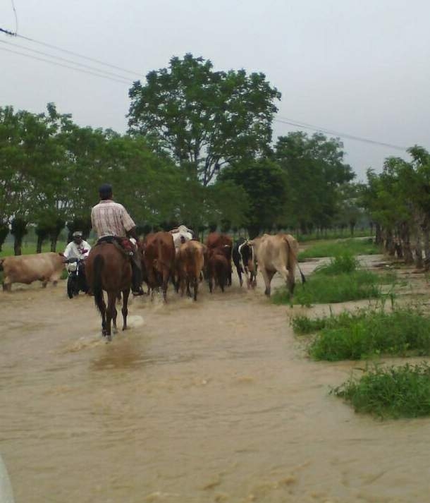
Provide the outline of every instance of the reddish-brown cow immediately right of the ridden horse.
{"type": "Polygon", "coordinates": [[[173,276],[175,265],[175,245],[170,232],[148,234],[143,246],[143,261],[148,276],[148,286],[153,291],[162,287],[164,301],[167,301],[168,279],[173,276]]]}

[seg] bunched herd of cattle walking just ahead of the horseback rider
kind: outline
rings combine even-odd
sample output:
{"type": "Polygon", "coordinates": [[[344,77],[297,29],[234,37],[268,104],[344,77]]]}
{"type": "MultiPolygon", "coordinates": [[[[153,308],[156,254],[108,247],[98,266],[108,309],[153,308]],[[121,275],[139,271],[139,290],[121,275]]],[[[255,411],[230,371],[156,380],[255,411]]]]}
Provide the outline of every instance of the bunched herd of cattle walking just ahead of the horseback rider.
{"type": "MultiPolygon", "coordinates": [[[[298,243],[290,234],[264,234],[253,240],[239,238],[234,243],[230,236],[213,232],[206,242],[195,239],[184,226],[169,232],[149,234],[140,243],[142,271],[149,291],[161,286],[166,300],[168,281],[172,279],[176,291],[197,300],[199,283],[207,279],[209,291],[219,286],[224,291],[231,285],[232,258],[240,286],[245,275],[248,288],[257,284],[257,267],[262,272],[265,293],[270,296],[271,279],[279,272],[293,293],[298,243]],[[192,295],[190,287],[194,290],[192,295]]],[[[301,274],[301,272],[300,272],[301,274]]],[[[303,276],[302,276],[302,279],[303,276]]]]}

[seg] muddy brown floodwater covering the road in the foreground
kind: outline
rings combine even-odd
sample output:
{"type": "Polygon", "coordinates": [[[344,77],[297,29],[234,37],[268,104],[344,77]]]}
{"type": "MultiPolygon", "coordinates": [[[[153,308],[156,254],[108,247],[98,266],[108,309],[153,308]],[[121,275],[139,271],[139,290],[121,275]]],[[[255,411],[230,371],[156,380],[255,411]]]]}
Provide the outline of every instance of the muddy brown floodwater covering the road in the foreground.
{"type": "Polygon", "coordinates": [[[302,308],[272,305],[258,280],[135,299],[111,344],[64,284],[0,293],[16,503],[430,501],[430,420],[382,423],[328,394],[362,364],[308,360],[288,325],[302,308]]]}

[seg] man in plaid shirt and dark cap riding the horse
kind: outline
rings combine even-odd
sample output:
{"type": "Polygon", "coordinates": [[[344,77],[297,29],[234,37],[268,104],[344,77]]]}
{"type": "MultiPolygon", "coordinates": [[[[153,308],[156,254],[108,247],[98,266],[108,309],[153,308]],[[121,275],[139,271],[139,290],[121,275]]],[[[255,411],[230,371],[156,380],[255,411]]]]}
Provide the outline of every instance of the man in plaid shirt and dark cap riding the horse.
{"type": "Polygon", "coordinates": [[[92,228],[97,233],[99,242],[116,241],[120,246],[128,237],[133,244],[131,255],[132,287],[133,295],[143,295],[142,290],[142,264],[140,251],[137,248],[137,232],[133,219],[123,205],[112,199],[112,186],[104,183],[99,188],[100,202],[91,210],[92,228]]]}

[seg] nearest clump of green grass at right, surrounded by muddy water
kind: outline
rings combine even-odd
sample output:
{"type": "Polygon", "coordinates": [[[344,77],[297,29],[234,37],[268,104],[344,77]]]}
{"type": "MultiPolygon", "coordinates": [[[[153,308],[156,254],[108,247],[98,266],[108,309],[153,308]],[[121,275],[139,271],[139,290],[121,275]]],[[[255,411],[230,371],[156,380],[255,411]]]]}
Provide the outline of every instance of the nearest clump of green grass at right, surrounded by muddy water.
{"type": "Polygon", "coordinates": [[[430,367],[403,365],[378,368],[360,379],[351,378],[333,389],[356,412],[379,418],[418,418],[430,415],[430,367]]]}

